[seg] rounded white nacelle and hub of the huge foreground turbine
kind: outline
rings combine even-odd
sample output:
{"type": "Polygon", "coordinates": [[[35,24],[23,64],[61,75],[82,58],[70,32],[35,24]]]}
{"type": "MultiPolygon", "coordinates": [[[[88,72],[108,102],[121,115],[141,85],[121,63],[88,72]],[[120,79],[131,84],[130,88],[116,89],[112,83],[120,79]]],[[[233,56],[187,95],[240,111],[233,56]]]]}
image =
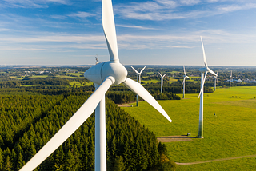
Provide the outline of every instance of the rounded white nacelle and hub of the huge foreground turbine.
{"type": "Polygon", "coordinates": [[[118,62],[103,62],[86,70],[84,76],[90,82],[98,85],[102,84],[106,77],[112,76],[115,80],[113,85],[119,85],[126,81],[127,70],[118,62]]]}

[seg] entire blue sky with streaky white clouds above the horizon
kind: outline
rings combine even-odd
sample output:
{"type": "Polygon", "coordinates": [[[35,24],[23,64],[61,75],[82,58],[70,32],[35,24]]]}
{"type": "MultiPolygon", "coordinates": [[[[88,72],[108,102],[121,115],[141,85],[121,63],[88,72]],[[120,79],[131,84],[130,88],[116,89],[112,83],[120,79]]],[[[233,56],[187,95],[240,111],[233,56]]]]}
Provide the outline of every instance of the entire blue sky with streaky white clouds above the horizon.
{"type": "MultiPolygon", "coordinates": [[[[113,0],[125,65],[256,66],[255,0],[113,0]]],[[[100,0],[0,0],[0,65],[108,61],[100,0]]]]}

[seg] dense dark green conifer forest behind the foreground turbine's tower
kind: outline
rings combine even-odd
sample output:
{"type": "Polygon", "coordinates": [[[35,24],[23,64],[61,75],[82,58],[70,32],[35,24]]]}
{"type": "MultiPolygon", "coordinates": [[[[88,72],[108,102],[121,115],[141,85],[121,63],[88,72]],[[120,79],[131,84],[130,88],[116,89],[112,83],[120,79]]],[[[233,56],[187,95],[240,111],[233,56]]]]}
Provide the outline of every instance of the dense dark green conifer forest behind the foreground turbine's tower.
{"type": "MultiPolygon", "coordinates": [[[[0,96],[0,170],[21,169],[90,96],[0,96]]],[[[94,114],[35,170],[94,170],[94,114]]],[[[134,117],[106,99],[108,170],[163,170],[174,167],[165,145],[134,117]]]]}

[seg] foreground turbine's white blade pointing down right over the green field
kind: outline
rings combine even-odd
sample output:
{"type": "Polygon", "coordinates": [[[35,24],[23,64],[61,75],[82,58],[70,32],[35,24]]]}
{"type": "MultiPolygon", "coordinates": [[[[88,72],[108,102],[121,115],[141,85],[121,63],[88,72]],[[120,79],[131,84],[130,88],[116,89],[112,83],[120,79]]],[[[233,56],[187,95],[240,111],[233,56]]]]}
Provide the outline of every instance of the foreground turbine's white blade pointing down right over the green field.
{"type": "Polygon", "coordinates": [[[161,105],[158,104],[158,101],[156,101],[154,97],[152,97],[151,94],[142,85],[140,85],[138,82],[134,82],[130,78],[126,78],[126,82],[123,82],[123,84],[126,85],[126,87],[128,87],[129,89],[131,89],[134,93],[142,97],[146,102],[152,105],[154,109],[157,109],[158,112],[162,113],[162,115],[166,117],[168,121],[171,122],[171,119],[166,113],[166,111],[162,109],[161,105]]]}

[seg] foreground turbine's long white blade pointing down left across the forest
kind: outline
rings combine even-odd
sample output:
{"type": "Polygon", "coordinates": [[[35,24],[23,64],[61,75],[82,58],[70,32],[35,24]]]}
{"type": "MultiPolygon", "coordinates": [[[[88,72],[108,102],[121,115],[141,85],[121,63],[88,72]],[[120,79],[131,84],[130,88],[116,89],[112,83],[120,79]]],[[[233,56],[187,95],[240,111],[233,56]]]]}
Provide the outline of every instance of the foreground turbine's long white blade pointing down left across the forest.
{"type": "Polygon", "coordinates": [[[62,143],[66,141],[66,139],[70,137],[70,135],[72,135],[88,117],[90,117],[90,115],[94,112],[94,109],[97,107],[98,102],[102,100],[102,97],[104,97],[106,91],[113,83],[114,78],[106,78],[102,84],[99,85],[98,89],[96,89],[94,93],[87,99],[87,101],[80,107],[80,109],[74,113],[70,120],[58,130],[58,133],[56,133],[54,137],[52,137],[50,141],[48,141],[46,145],[44,145],[42,149],[40,149],[38,153],[36,153],[34,157],[32,157],[30,161],[28,161],[26,165],[22,167],[22,169],[20,169],[20,171],[34,170],[42,163],[42,161],[49,157],[50,154],[55,151],[55,149],[58,149],[58,147],[62,145],[62,143]]]}

